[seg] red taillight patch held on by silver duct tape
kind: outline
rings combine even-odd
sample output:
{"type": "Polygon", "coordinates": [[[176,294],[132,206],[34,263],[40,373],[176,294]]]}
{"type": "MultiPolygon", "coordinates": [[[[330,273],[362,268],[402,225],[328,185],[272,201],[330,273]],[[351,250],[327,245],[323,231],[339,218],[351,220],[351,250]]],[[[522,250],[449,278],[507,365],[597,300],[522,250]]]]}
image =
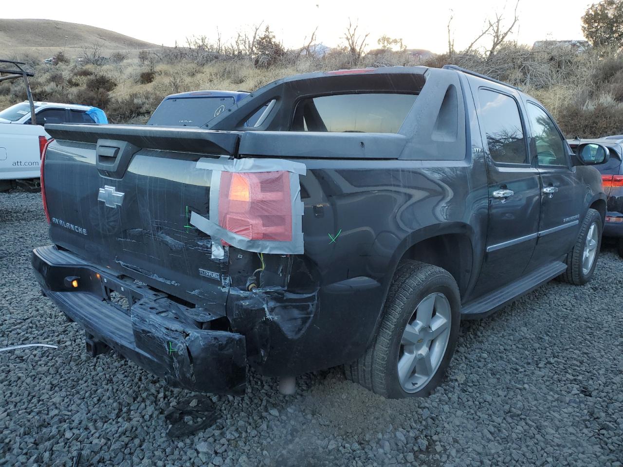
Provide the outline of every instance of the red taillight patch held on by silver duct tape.
{"type": "Polygon", "coordinates": [[[222,172],[219,224],[250,240],[292,240],[289,172],[222,172]]]}

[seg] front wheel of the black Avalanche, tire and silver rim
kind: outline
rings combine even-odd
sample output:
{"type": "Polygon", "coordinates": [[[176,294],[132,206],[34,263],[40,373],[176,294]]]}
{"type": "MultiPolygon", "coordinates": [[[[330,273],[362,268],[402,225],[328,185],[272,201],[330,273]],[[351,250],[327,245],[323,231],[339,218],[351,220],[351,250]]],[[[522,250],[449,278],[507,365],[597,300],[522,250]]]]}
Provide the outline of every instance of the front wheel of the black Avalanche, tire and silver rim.
{"type": "Polygon", "coordinates": [[[601,214],[595,209],[589,209],[578,240],[567,255],[567,270],[560,275],[561,280],[573,285],[584,285],[591,280],[601,249],[602,230],[601,214]]]}

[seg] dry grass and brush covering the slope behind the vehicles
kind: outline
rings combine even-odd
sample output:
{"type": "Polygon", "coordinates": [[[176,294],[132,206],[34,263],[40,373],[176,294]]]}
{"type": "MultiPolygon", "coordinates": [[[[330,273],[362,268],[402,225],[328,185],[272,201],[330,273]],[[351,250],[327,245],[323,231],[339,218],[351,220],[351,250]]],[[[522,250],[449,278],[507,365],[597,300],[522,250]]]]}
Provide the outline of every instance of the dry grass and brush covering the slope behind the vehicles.
{"type": "MultiPolygon", "coordinates": [[[[493,57],[438,55],[426,65],[454,63],[518,85],[540,100],[569,135],[623,133],[623,56],[616,51],[576,52],[553,47],[530,49],[505,44],[493,57]]],[[[197,63],[161,54],[104,65],[36,65],[32,79],[37,100],[100,105],[112,123],[143,123],[169,94],[189,90],[245,90],[297,73],[366,66],[417,65],[398,52],[368,54],[354,60],[337,50],[325,57],[287,54],[271,68],[249,58],[216,57],[197,63]]],[[[21,83],[0,83],[0,108],[26,98],[21,83]]]]}

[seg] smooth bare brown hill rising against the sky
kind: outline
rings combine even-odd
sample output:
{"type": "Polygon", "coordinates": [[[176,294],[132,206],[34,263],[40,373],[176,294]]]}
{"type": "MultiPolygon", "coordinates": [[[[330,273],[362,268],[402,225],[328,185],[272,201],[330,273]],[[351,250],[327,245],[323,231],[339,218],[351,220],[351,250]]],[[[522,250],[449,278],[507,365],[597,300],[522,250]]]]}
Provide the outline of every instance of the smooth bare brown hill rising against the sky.
{"type": "Polygon", "coordinates": [[[159,45],[134,39],[118,32],[51,19],[0,19],[0,57],[50,57],[65,49],[70,57],[80,55],[84,45],[97,42],[103,54],[114,50],[156,49],[159,45]]]}

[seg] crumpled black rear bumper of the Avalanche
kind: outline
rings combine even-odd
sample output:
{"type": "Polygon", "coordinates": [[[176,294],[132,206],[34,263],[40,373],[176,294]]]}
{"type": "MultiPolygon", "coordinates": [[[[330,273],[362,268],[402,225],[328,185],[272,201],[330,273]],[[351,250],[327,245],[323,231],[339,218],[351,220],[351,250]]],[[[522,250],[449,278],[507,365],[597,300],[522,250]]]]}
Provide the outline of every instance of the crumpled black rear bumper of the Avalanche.
{"type": "Polygon", "coordinates": [[[170,385],[244,394],[245,338],[209,329],[219,316],[176,303],[55,247],[36,248],[32,266],[45,295],[90,335],[87,346],[103,343],[170,385]],[[111,293],[126,302],[113,303],[111,293]]]}

